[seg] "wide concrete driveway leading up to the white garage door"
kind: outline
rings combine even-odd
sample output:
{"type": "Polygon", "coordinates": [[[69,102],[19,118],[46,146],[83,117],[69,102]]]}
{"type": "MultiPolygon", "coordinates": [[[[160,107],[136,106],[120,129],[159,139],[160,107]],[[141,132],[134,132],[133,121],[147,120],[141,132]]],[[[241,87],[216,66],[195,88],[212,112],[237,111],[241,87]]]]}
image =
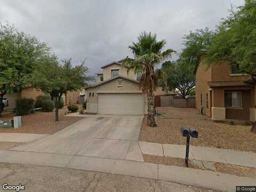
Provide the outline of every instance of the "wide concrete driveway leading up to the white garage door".
{"type": "Polygon", "coordinates": [[[86,115],[66,129],[11,150],[143,161],[138,145],[143,116],[86,115]]]}

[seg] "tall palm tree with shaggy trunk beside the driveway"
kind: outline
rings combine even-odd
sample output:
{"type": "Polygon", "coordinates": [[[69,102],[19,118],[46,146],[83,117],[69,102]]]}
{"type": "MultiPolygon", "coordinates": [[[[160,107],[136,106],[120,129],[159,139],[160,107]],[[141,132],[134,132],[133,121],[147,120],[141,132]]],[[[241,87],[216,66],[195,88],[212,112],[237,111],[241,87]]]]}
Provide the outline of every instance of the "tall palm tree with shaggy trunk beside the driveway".
{"type": "Polygon", "coordinates": [[[154,117],[154,90],[157,87],[157,75],[154,67],[165,59],[169,59],[171,54],[175,52],[172,49],[167,49],[162,52],[166,45],[165,39],[157,41],[156,34],[146,33],[143,31],[138,36],[138,42],[132,43],[129,49],[134,54],[134,59],[127,59],[123,65],[133,69],[136,74],[141,74],[140,89],[143,93],[147,93],[148,97],[148,115],[147,125],[156,126],[154,117]]]}

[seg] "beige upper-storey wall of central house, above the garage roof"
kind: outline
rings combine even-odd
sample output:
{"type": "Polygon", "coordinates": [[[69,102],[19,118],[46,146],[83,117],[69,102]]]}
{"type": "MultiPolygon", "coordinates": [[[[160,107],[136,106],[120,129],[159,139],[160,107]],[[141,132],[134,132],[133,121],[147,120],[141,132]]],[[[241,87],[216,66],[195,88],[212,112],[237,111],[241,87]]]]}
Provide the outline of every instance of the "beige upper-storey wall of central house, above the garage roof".
{"type": "Polygon", "coordinates": [[[112,78],[111,70],[113,70],[113,69],[119,69],[119,75],[121,75],[123,77],[131,78],[134,80],[137,79],[137,75],[134,73],[134,70],[130,70],[129,73],[127,74],[126,67],[123,67],[117,63],[113,63],[112,65],[103,68],[103,81],[106,81],[107,79],[112,78]]]}

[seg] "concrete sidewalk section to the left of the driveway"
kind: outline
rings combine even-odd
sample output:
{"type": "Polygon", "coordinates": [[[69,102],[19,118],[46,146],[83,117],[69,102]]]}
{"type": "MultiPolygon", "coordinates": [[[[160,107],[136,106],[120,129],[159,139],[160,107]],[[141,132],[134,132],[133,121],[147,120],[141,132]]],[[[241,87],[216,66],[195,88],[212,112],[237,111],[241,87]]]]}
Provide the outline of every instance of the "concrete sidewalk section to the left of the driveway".
{"type": "Polygon", "coordinates": [[[0,141],[3,142],[31,142],[38,139],[45,138],[47,134],[33,134],[33,133],[0,133],[0,141]]]}

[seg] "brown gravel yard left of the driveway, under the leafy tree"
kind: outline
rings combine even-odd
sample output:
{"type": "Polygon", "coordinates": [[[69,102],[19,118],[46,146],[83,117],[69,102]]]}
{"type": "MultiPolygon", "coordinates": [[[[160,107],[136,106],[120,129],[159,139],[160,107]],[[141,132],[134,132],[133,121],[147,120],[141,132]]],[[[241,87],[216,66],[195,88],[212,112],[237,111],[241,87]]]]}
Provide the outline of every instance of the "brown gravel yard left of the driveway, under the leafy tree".
{"type": "MultiPolygon", "coordinates": [[[[79,109],[82,105],[78,105],[79,109]]],[[[79,121],[83,117],[65,117],[67,106],[59,110],[59,121],[55,122],[55,112],[36,112],[35,114],[22,116],[22,126],[19,129],[2,128],[0,133],[37,133],[53,134],[67,126],[79,121]]],[[[14,114],[3,114],[0,119],[10,119],[14,114]]]]}

